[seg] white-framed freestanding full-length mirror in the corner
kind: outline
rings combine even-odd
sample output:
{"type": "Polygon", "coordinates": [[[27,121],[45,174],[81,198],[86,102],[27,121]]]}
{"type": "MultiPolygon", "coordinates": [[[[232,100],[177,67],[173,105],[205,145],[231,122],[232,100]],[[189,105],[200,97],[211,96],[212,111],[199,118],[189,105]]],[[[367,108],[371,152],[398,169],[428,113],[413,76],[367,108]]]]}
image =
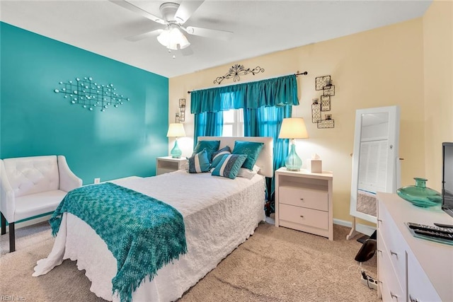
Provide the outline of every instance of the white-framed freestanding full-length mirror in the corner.
{"type": "Polygon", "coordinates": [[[357,225],[356,218],[377,223],[376,193],[396,192],[400,186],[398,141],[398,106],[356,111],[350,197],[353,221],[347,239],[357,232],[371,235],[374,229],[357,225]]]}

